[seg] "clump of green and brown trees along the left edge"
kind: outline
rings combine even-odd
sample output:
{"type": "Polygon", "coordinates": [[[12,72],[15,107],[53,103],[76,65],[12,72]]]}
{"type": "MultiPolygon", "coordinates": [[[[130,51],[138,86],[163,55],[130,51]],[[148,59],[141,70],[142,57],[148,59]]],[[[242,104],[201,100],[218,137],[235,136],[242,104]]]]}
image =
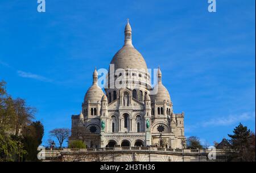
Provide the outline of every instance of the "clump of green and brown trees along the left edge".
{"type": "Polygon", "coordinates": [[[44,132],[39,121],[31,124],[34,113],[35,108],[28,107],[23,99],[13,99],[6,91],[6,82],[0,82],[0,161],[24,161],[23,156],[30,155],[35,161],[44,132]],[[30,127],[29,135],[26,126],[30,127]]]}

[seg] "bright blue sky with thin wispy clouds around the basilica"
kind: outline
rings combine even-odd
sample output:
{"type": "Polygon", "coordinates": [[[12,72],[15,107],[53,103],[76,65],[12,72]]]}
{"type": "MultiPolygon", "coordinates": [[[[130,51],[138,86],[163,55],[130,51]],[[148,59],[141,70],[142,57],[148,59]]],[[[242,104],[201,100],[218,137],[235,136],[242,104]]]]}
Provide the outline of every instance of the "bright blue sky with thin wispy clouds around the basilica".
{"type": "Polygon", "coordinates": [[[108,68],[130,19],[134,47],[161,67],[185,135],[221,141],[242,123],[255,132],[255,1],[0,1],[0,80],[36,107],[48,139],[71,127],[94,67],[108,68]]]}

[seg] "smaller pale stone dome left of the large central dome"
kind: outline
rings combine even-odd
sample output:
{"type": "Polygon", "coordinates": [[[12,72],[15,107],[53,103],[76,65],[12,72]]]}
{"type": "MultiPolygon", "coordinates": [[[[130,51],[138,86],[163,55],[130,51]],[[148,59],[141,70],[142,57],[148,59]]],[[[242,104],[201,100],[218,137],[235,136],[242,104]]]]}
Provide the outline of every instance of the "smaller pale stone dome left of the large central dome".
{"type": "Polygon", "coordinates": [[[101,101],[103,95],[104,92],[96,83],[94,83],[86,92],[84,96],[84,103],[88,103],[88,100],[90,100],[90,102],[101,101]]]}

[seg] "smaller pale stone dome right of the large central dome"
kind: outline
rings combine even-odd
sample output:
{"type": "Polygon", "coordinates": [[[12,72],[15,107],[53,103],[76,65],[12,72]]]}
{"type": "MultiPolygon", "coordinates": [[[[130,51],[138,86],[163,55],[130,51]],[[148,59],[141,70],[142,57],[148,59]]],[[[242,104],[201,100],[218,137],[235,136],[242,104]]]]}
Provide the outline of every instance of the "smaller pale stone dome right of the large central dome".
{"type": "Polygon", "coordinates": [[[163,86],[162,83],[158,83],[158,85],[156,85],[154,87],[154,90],[158,91],[158,92],[155,95],[150,95],[151,100],[153,100],[153,101],[168,100],[168,102],[171,102],[170,94],[169,94],[168,90],[166,89],[166,87],[163,86]]]}

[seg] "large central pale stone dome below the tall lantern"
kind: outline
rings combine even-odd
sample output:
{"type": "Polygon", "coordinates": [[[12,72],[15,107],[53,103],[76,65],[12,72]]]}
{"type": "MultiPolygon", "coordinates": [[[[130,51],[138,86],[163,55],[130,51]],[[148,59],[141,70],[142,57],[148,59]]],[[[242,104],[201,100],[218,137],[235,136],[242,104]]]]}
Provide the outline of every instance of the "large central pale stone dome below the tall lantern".
{"type": "Polygon", "coordinates": [[[116,69],[144,69],[147,71],[147,64],[134,47],[125,45],[113,57],[110,64],[115,65],[116,69]]]}

